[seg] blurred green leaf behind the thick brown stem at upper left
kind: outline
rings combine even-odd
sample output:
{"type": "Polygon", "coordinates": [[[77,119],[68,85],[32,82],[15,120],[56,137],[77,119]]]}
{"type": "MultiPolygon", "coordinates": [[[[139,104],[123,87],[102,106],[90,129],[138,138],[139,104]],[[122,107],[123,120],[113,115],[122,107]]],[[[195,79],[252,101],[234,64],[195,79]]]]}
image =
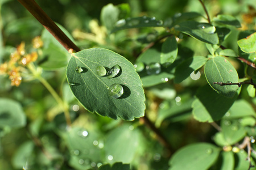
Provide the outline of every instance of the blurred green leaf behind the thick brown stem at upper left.
{"type": "MultiPolygon", "coordinates": [[[[69,37],[69,39],[75,42],[70,33],[64,27],[59,24],[57,25],[65,35],[69,37]]],[[[55,70],[67,66],[70,54],[60,44],[60,42],[47,31],[47,29],[44,29],[42,32],[42,40],[44,42],[42,49],[43,56],[39,58],[39,66],[47,70],[55,70]]]]}

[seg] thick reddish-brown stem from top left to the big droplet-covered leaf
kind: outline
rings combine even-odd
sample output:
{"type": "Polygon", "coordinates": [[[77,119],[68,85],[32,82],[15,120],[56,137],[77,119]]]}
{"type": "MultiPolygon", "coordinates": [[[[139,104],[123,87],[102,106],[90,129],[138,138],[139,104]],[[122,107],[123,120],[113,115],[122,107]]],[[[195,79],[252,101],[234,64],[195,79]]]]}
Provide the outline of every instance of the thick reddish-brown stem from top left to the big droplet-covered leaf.
{"type": "Polygon", "coordinates": [[[63,31],[53,22],[51,18],[40,8],[40,6],[34,0],[18,0],[28,11],[46,28],[56,40],[64,46],[65,49],[74,49],[79,52],[77,47],[63,31]]]}

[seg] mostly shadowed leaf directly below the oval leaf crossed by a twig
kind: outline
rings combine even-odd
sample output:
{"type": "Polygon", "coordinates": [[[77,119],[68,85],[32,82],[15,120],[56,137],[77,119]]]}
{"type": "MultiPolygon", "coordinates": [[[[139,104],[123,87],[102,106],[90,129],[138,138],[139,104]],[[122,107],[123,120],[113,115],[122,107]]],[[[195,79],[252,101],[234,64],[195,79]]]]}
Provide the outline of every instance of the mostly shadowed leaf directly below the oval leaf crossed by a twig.
{"type": "Polygon", "coordinates": [[[217,94],[208,85],[199,88],[197,99],[192,104],[192,114],[200,122],[220,120],[237,99],[239,92],[233,98],[217,94]]]}

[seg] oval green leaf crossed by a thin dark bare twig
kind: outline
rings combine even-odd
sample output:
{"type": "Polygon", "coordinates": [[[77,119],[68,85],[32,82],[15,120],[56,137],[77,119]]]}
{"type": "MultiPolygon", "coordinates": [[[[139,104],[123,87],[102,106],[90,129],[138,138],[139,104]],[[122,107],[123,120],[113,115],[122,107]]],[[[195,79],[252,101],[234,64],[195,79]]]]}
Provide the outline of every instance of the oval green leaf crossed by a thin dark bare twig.
{"type": "Polygon", "coordinates": [[[224,57],[214,57],[210,59],[204,67],[205,77],[210,86],[219,94],[225,97],[233,97],[236,94],[237,85],[220,86],[215,82],[238,82],[238,74],[232,64],[224,57]]]}

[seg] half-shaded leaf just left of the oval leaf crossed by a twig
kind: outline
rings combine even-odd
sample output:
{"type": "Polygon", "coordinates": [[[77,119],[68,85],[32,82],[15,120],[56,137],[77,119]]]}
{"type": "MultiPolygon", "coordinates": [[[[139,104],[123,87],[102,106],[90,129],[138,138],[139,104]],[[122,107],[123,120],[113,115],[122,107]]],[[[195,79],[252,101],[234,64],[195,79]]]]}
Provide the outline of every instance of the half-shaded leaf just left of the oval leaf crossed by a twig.
{"type": "Polygon", "coordinates": [[[180,63],[175,70],[175,83],[180,83],[186,79],[193,71],[200,69],[207,62],[207,58],[203,56],[195,56],[188,58],[180,63]]]}

